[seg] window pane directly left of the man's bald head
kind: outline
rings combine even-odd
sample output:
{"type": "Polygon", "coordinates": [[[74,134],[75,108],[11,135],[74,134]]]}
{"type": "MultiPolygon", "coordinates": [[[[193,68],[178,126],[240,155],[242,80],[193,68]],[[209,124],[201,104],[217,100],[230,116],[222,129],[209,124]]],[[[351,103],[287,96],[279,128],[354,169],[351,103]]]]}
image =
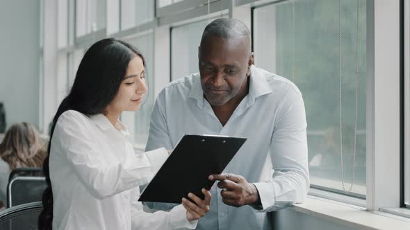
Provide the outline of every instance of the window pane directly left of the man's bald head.
{"type": "Polygon", "coordinates": [[[183,78],[190,73],[199,72],[198,47],[201,42],[202,32],[207,24],[208,20],[172,28],[172,80],[183,78]]]}

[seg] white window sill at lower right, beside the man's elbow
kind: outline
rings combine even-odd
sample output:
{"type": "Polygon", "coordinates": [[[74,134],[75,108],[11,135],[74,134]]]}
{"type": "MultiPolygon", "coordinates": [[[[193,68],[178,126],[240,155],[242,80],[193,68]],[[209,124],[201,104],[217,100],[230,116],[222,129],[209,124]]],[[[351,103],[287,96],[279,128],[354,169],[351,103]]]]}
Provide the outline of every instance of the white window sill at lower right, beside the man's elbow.
{"type": "Polygon", "coordinates": [[[410,218],[403,218],[381,211],[366,211],[361,206],[311,195],[308,195],[303,204],[295,204],[290,209],[358,229],[410,229],[410,218]]]}

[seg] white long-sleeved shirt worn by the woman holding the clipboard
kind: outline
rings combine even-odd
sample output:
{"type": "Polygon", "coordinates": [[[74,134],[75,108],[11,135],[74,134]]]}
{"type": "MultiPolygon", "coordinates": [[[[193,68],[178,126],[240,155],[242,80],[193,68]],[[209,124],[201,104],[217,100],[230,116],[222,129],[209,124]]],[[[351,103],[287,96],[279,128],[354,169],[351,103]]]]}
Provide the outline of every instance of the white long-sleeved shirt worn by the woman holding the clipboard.
{"type": "MultiPolygon", "coordinates": [[[[120,125],[120,121],[118,121],[120,125]]],[[[69,110],[51,139],[49,170],[54,198],[53,229],[194,229],[183,206],[145,213],[140,189],[167,158],[164,148],[134,152],[128,132],[99,114],[69,110]]]]}

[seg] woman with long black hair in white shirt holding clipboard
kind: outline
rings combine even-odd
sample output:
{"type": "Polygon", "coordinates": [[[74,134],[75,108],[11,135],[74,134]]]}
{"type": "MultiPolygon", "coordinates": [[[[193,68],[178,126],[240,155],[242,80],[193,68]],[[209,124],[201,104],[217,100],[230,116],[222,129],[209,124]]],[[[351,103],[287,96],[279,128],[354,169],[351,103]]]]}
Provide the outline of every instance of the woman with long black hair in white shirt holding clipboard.
{"type": "Polygon", "coordinates": [[[188,195],[196,204],[183,199],[170,212],[142,211],[138,186],[168,152],[133,152],[118,118],[140,108],[144,76],[144,57],[120,40],[103,39],[85,53],[51,127],[39,229],[192,229],[208,212],[206,190],[204,200],[188,195]]]}

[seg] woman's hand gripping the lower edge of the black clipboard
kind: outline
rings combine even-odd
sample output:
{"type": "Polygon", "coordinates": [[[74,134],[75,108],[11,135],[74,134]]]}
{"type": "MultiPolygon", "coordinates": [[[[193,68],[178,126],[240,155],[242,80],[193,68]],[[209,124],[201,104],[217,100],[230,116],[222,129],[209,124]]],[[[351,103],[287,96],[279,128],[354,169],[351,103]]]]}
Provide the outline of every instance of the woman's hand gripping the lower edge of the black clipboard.
{"type": "Polygon", "coordinates": [[[202,188],[202,193],[205,195],[204,200],[201,200],[193,193],[188,193],[188,197],[190,197],[195,204],[186,198],[182,198],[182,205],[186,209],[186,219],[188,221],[199,220],[199,218],[202,218],[209,211],[211,193],[205,188],[202,188]]]}

